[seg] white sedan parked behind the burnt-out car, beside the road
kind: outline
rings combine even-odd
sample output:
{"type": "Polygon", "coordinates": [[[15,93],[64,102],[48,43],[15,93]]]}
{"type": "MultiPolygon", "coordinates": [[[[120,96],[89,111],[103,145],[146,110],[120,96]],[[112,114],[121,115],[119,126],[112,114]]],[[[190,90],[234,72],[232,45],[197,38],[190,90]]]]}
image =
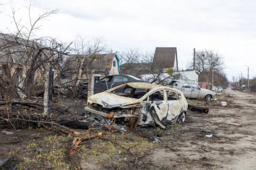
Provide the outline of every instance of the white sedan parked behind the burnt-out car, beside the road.
{"type": "Polygon", "coordinates": [[[197,85],[196,83],[193,83],[193,81],[173,80],[170,82],[169,85],[170,87],[179,89],[183,92],[185,97],[191,99],[205,99],[206,101],[210,101],[216,95],[214,91],[203,89],[199,87],[199,85],[197,85]]]}

